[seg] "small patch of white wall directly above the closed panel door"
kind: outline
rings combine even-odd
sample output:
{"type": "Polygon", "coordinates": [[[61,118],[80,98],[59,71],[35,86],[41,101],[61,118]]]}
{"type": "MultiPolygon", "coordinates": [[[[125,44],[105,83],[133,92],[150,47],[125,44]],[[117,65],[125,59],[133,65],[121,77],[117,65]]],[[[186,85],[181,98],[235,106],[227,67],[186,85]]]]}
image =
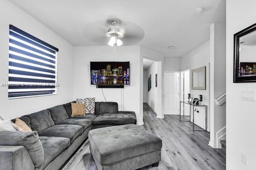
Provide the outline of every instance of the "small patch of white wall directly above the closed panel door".
{"type": "Polygon", "coordinates": [[[180,57],[164,57],[164,71],[180,71],[180,57]]]}

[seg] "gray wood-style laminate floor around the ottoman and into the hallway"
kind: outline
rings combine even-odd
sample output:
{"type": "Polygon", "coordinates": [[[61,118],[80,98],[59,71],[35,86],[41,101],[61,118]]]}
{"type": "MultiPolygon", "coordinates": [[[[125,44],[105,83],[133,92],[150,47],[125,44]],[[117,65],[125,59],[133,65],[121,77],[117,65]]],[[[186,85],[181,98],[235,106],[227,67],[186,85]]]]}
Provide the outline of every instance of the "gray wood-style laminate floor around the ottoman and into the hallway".
{"type": "MultiPolygon", "coordinates": [[[[159,136],[163,141],[162,161],[158,167],[147,166],[140,170],[224,170],[226,154],[221,149],[212,149],[209,133],[193,131],[192,123],[180,122],[177,115],[156,118],[154,111],[143,104],[143,120],[146,130],[159,136]]],[[[89,149],[84,142],[78,152],[62,170],[97,170],[89,149]]],[[[121,170],[121,169],[120,169],[121,170]]]]}

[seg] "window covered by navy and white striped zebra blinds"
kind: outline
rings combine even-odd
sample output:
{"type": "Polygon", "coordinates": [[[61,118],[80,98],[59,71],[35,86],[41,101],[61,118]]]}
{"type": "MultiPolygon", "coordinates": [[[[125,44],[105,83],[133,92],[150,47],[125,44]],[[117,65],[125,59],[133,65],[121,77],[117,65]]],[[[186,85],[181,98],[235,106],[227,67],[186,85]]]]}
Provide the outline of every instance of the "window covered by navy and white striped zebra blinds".
{"type": "Polygon", "coordinates": [[[56,94],[58,48],[10,25],[8,98],[56,94]]]}

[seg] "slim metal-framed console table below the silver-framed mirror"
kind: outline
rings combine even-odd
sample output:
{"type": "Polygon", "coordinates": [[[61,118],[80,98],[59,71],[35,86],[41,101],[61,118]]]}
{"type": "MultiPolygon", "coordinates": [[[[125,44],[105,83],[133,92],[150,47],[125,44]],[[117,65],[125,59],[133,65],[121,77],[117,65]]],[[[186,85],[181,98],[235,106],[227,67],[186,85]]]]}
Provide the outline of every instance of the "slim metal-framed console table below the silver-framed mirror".
{"type": "MultiPolygon", "coordinates": [[[[192,103],[180,101],[180,122],[190,122],[191,106],[193,106],[193,131],[207,131],[207,110],[208,110],[207,105],[194,105],[192,103]],[[189,120],[181,120],[181,103],[189,105],[189,120]],[[205,107],[205,129],[195,129],[195,107],[205,107]]],[[[184,115],[184,109],[183,109],[183,115],[184,115]]]]}

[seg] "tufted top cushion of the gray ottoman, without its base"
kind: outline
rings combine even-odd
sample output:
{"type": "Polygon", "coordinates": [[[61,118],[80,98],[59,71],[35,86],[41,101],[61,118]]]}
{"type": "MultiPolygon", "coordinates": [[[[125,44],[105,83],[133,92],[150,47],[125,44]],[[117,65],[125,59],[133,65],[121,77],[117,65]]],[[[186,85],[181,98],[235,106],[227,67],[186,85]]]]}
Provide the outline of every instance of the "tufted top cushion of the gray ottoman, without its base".
{"type": "Polygon", "coordinates": [[[137,125],[94,129],[89,132],[90,150],[102,165],[161,150],[162,140],[137,125]]]}

